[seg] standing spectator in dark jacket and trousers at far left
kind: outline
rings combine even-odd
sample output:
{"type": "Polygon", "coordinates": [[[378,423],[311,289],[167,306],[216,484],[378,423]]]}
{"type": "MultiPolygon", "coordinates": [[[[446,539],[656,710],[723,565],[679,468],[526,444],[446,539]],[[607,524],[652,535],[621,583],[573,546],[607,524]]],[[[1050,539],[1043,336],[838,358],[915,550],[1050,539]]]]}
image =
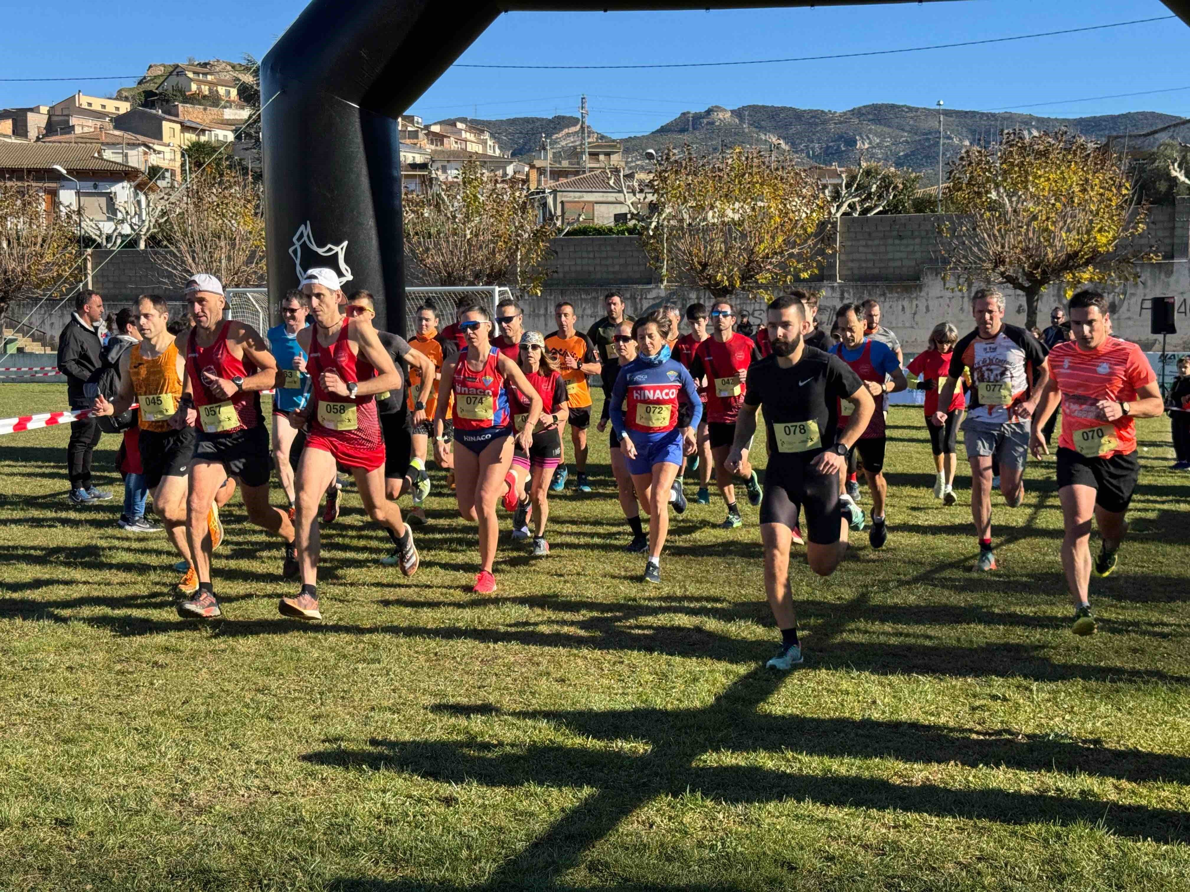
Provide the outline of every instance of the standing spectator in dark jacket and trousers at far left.
{"type": "MultiPolygon", "coordinates": [[[[96,291],[81,291],[75,297],[75,313],[58,335],[58,371],[67,376],[67,396],[71,409],[89,409],[83,385],[99,368],[99,321],[104,318],[104,299],[96,291]]],[[[111,492],[90,483],[90,457],[99,444],[99,422],[86,417],[70,423],[67,444],[67,473],[70,476],[70,501],[90,504],[111,498],[111,492]]]]}

